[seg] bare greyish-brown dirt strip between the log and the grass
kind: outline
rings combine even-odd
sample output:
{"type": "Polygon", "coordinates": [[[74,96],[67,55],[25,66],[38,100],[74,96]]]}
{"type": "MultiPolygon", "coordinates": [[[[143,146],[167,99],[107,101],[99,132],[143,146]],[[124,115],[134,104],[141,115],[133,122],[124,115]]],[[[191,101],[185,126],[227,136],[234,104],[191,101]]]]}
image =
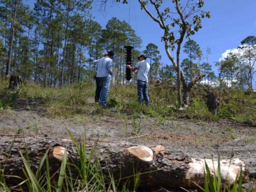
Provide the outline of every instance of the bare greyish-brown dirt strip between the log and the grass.
{"type": "MultiPolygon", "coordinates": [[[[22,101],[21,101],[22,102],[22,101]]],[[[230,120],[202,122],[169,119],[159,122],[141,114],[136,121],[113,116],[76,116],[72,119],[52,119],[34,105],[18,105],[0,113],[0,134],[38,134],[44,137],[74,137],[91,140],[125,140],[140,145],[164,145],[174,154],[191,157],[241,158],[250,172],[256,171],[256,127],[230,120]],[[28,106],[32,106],[28,108],[28,106]],[[136,134],[137,133],[137,134],[136,134]]],[[[92,104],[96,105],[96,104],[92,104]]],[[[112,111],[115,113],[115,110],[112,111]]],[[[245,184],[248,191],[256,188],[256,180],[245,184]]]]}

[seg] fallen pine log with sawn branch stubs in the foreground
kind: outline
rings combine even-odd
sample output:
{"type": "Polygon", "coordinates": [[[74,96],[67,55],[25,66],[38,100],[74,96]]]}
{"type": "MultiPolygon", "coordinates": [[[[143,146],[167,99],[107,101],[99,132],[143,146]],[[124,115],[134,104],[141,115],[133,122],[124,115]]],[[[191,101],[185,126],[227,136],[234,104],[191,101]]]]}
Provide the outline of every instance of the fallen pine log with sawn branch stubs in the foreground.
{"type": "MultiPolygon", "coordinates": [[[[81,141],[78,141],[81,143],[81,141]]],[[[139,186],[143,188],[166,187],[194,188],[195,183],[204,184],[204,169],[207,162],[210,172],[218,172],[218,161],[188,157],[185,154],[171,154],[163,146],[134,146],[128,142],[95,142],[86,141],[87,155],[95,151],[95,158],[99,160],[100,169],[106,178],[111,172],[116,180],[127,178],[140,173],[139,186]],[[147,174],[143,174],[148,172],[147,174]],[[121,174],[120,174],[121,173],[121,174]]],[[[67,150],[68,161],[79,165],[79,155],[72,140],[52,140],[45,137],[13,137],[0,138],[0,164],[5,175],[24,177],[22,172],[24,157],[29,157],[32,170],[36,170],[41,158],[49,150],[48,159],[52,172],[61,166],[64,151],[67,150]]],[[[94,160],[92,161],[95,161],[94,160]]],[[[248,180],[248,171],[245,164],[239,159],[221,160],[222,182],[232,184],[237,179],[240,169],[243,173],[243,182],[248,180]]],[[[7,183],[15,184],[8,178],[7,183]]]]}

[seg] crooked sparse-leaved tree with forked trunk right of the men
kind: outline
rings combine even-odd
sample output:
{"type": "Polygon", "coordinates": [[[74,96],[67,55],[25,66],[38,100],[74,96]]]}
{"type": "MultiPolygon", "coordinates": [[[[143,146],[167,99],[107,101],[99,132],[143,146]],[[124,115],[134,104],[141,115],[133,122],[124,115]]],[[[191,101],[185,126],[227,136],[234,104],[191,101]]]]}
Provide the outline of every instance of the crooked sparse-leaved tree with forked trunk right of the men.
{"type": "MultiPolygon", "coordinates": [[[[183,1],[185,3],[180,3],[180,0],[172,0],[172,4],[169,7],[163,7],[163,0],[138,1],[141,8],[145,10],[152,20],[159,24],[161,29],[163,29],[162,41],[165,44],[166,54],[172,61],[177,72],[179,105],[182,105],[181,83],[183,85],[183,102],[185,105],[188,105],[190,90],[205,74],[198,74],[194,76],[188,84],[186,83],[183,70],[180,70],[180,48],[184,38],[189,38],[201,29],[202,18],[210,17],[209,12],[201,11],[201,8],[204,6],[204,1],[199,0],[194,3],[192,0],[187,0],[186,2],[183,1]],[[149,11],[147,6],[152,6],[153,8],[150,8],[152,11],[149,11]],[[175,45],[177,47],[175,47],[175,45]],[[176,60],[170,52],[170,48],[172,51],[176,48],[176,60]]],[[[123,3],[125,3],[125,1],[123,1],[123,3]]]]}

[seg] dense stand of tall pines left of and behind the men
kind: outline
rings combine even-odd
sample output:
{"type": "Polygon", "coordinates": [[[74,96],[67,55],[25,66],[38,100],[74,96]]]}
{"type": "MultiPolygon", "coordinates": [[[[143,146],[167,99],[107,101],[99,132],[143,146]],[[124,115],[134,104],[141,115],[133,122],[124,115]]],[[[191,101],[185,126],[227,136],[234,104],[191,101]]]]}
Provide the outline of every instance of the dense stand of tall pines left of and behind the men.
{"type": "Polygon", "coordinates": [[[116,52],[112,81],[124,81],[124,45],[134,59],[142,40],[134,29],[113,17],[106,26],[91,19],[91,0],[37,0],[34,9],[22,0],[0,1],[0,76],[63,86],[92,78],[92,61],[116,52]],[[103,29],[105,28],[105,29],[103,29]]]}

